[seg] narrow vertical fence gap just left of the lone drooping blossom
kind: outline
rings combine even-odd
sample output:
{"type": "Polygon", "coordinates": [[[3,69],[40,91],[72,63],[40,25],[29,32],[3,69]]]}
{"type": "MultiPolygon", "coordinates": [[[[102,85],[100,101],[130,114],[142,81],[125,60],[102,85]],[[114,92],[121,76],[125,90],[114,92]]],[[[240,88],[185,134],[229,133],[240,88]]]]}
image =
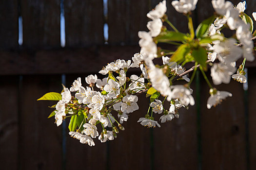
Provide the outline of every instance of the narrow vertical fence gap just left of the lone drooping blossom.
{"type": "Polygon", "coordinates": [[[196,72],[196,107],[197,107],[197,160],[198,170],[202,169],[201,112],[200,112],[200,76],[196,72]]]}

